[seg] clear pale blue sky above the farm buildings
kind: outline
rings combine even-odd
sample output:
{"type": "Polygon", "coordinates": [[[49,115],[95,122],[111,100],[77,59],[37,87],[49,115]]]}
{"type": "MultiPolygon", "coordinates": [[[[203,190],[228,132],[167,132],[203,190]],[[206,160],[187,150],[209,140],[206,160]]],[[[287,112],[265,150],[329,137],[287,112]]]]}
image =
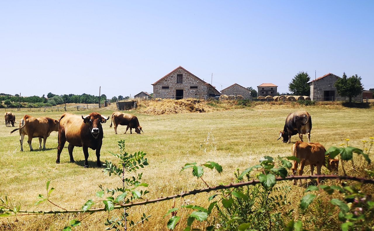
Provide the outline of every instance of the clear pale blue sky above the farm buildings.
{"type": "Polygon", "coordinates": [[[299,71],[374,88],[374,1],[0,1],[0,92],[133,96],[178,66],[218,90],[299,71]],[[221,86],[222,85],[222,86],[221,86]]]}

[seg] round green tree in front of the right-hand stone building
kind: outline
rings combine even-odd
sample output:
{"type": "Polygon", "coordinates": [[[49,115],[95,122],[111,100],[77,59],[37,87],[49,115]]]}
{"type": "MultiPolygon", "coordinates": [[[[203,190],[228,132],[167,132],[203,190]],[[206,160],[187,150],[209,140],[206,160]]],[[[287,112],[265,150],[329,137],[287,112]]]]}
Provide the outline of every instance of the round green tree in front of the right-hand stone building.
{"type": "Polygon", "coordinates": [[[339,78],[335,84],[338,95],[342,97],[349,97],[349,102],[352,102],[352,97],[358,96],[362,92],[361,77],[357,74],[347,78],[346,73],[343,73],[343,78],[339,78]]]}

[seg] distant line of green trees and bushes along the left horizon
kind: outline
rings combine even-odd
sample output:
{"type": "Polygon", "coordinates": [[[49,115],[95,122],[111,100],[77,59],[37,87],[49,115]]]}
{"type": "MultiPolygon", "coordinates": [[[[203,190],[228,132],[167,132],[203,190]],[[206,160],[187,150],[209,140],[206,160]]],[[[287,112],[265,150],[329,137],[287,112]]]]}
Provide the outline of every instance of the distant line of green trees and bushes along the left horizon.
{"type": "MultiPolygon", "coordinates": [[[[100,97],[101,103],[107,100],[107,96],[102,94],[100,97]]],[[[9,94],[0,93],[0,107],[18,107],[19,105],[19,95],[15,94],[14,96],[9,94]]],[[[47,94],[47,97],[43,95],[40,96],[21,96],[21,107],[52,107],[58,104],[64,103],[81,103],[81,104],[98,104],[99,96],[89,95],[83,93],[82,95],[55,95],[51,92],[47,94]]]]}

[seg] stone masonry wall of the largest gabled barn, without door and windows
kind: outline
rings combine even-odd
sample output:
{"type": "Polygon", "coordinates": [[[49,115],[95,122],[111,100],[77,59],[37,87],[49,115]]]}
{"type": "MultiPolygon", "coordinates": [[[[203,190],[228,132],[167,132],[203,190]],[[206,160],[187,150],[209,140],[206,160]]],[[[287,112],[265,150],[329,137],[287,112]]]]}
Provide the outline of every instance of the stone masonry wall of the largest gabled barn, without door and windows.
{"type": "Polygon", "coordinates": [[[197,97],[209,96],[215,93],[208,84],[200,81],[190,73],[178,68],[173,73],[169,74],[166,78],[153,85],[153,96],[155,98],[175,98],[175,90],[183,90],[183,97],[197,97]],[[177,74],[183,74],[183,83],[177,83],[177,74]],[[162,87],[169,87],[169,89],[162,89],[162,87]],[[191,88],[197,87],[195,88],[191,88]]]}

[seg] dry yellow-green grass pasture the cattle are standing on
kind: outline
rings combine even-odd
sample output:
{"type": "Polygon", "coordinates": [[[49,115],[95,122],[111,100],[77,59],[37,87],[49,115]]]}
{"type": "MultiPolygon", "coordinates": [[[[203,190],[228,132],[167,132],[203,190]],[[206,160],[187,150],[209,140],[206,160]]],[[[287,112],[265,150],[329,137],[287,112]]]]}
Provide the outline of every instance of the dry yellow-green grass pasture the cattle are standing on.
{"type": "MultiPolygon", "coordinates": [[[[318,105],[303,107],[297,104],[258,104],[227,111],[210,113],[183,113],[137,115],[144,134],[123,134],[126,127],[119,126],[119,135],[109,128],[110,121],[103,124],[104,139],[101,149],[101,162],[105,160],[116,161],[109,153],[119,152],[117,141],[126,141],[126,150],[129,153],[144,151],[147,153],[149,166],[141,169],[143,180],[149,184],[146,198],[158,198],[166,195],[178,194],[203,188],[202,181],[193,178],[190,170],[180,173],[184,164],[205,161],[215,161],[223,166],[223,173],[207,171],[205,181],[213,186],[220,183],[229,184],[233,181],[233,172],[236,168],[245,168],[258,163],[260,157],[287,156],[291,154],[291,144],[276,141],[279,131],[283,129],[288,113],[296,110],[307,110],[312,115],[313,129],[312,142],[320,142],[329,148],[338,146],[350,139],[352,146],[361,147],[361,140],[374,136],[374,109],[346,108],[341,105],[318,105]],[[209,142],[206,142],[208,132],[211,131],[209,142]]],[[[105,116],[110,116],[113,110],[105,108],[98,110],[105,116]]],[[[88,114],[91,111],[73,112],[75,114],[88,114]]],[[[3,113],[3,109],[1,109],[3,113]]],[[[14,112],[16,121],[29,113],[34,117],[48,116],[58,119],[62,112],[14,112]]],[[[98,185],[104,187],[117,187],[121,185],[118,178],[109,177],[96,167],[95,152],[89,150],[88,169],[83,168],[84,156],[82,148],[74,148],[76,163],[69,163],[67,145],[61,154],[61,163],[56,164],[57,132],[53,132],[47,139],[46,151],[37,150],[39,141],[33,139],[31,152],[27,139],[24,141],[25,152],[20,151],[18,132],[10,134],[13,127],[5,127],[4,117],[1,117],[0,126],[0,197],[8,195],[10,202],[21,209],[28,210],[57,210],[52,204],[43,203],[35,206],[37,195],[45,194],[45,185],[56,188],[50,199],[65,209],[80,209],[88,199],[96,199],[95,192],[98,185]]],[[[129,133],[129,131],[128,131],[129,133]]],[[[292,136],[291,141],[298,140],[292,136]]],[[[373,159],[373,151],[370,154],[373,159]]],[[[306,168],[309,169],[309,168],[306,168]]],[[[327,170],[323,170],[327,173],[327,170]]],[[[307,174],[307,171],[305,170],[307,174]]],[[[292,182],[282,184],[291,185],[292,182]]],[[[298,207],[298,201],[305,188],[292,185],[291,195],[293,207],[298,207]]],[[[212,194],[212,193],[211,193],[212,194]]],[[[211,194],[202,193],[177,199],[176,204],[194,203],[200,206],[208,205],[211,194]]],[[[144,199],[146,199],[144,198],[144,199]]],[[[131,217],[139,218],[144,212],[151,215],[148,222],[140,224],[132,230],[168,230],[166,223],[169,216],[162,216],[173,205],[173,201],[163,201],[157,204],[137,206],[128,210],[131,217]]],[[[101,205],[100,205],[101,206],[101,205]]],[[[70,219],[82,221],[82,226],[75,230],[104,230],[107,218],[119,214],[118,211],[99,212],[95,214],[78,215],[43,215],[19,216],[17,218],[0,218],[0,230],[62,230],[68,225],[70,219]]],[[[178,215],[183,216],[183,212],[178,215]]],[[[186,218],[176,230],[183,230],[186,218]]],[[[196,223],[197,224],[197,223],[196,223]]],[[[205,228],[206,224],[196,225],[196,228],[205,228]]]]}

